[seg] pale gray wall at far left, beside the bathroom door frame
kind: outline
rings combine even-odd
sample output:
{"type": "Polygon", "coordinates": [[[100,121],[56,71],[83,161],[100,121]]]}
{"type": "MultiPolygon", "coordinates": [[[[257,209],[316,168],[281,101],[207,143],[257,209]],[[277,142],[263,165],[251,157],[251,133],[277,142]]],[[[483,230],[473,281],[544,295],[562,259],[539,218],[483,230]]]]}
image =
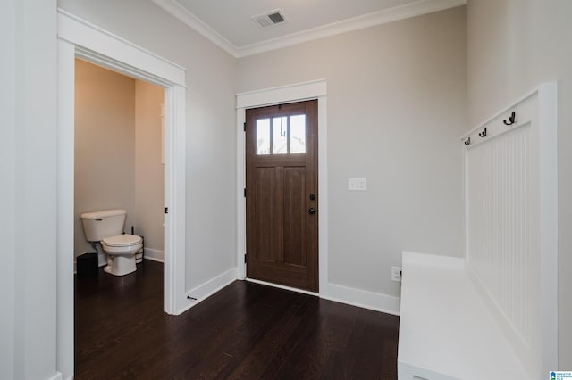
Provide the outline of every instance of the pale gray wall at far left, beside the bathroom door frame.
{"type": "Polygon", "coordinates": [[[3,379],[55,376],[55,9],[54,0],[0,2],[3,379]]]}

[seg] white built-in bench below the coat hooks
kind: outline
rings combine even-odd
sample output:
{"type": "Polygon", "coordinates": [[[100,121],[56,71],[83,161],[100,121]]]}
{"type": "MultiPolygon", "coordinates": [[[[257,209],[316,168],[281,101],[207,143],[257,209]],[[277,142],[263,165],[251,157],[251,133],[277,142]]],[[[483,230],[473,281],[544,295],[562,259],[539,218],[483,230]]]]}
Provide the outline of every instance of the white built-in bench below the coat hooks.
{"type": "Polygon", "coordinates": [[[403,252],[400,380],[530,379],[475,286],[465,260],[403,252]]]}

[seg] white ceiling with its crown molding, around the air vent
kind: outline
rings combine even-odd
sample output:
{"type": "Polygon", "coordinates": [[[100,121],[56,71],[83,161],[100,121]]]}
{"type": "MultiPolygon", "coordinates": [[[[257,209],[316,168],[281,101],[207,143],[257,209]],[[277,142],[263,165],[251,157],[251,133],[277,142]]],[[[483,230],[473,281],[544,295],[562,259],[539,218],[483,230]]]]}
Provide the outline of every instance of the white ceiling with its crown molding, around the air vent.
{"type": "Polygon", "coordinates": [[[466,0],[153,1],[236,57],[466,3],[466,0]],[[286,22],[261,29],[252,19],[276,9],[282,11],[286,22]]]}

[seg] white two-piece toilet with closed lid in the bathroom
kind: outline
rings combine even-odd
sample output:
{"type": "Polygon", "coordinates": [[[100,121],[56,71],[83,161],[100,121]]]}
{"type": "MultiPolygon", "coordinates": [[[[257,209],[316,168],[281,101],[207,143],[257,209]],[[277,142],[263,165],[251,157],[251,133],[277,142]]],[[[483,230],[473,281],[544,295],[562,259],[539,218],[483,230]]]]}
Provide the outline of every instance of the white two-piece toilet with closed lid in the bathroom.
{"type": "Polygon", "coordinates": [[[86,240],[101,243],[107,265],[105,272],[114,276],[137,270],[135,253],[143,247],[141,236],[123,234],[127,211],[123,209],[93,211],[81,214],[86,240]]]}

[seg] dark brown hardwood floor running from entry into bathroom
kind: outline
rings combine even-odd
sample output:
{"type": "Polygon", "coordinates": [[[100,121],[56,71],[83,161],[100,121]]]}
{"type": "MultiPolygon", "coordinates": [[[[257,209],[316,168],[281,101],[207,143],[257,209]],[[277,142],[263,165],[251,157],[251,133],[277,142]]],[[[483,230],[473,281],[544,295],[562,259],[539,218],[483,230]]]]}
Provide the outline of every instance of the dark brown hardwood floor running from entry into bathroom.
{"type": "Polygon", "coordinates": [[[163,281],[76,278],[76,379],[397,378],[398,317],[244,281],[168,316],[163,281]]]}

